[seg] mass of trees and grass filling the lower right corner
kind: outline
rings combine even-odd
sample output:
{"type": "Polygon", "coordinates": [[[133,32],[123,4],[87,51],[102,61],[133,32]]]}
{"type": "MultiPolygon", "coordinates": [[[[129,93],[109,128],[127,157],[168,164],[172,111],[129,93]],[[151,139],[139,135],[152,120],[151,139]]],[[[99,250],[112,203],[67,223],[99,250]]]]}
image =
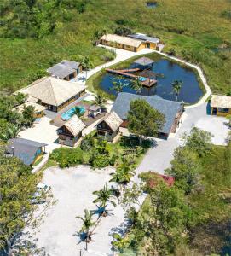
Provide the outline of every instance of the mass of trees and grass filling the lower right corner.
{"type": "MultiPolygon", "coordinates": [[[[141,174],[147,199],[140,212],[125,208],[130,232],[119,238],[118,248],[141,255],[230,253],[231,143],[214,146],[210,134],[196,128],[184,142],[166,170],[174,186],[150,172],[141,174]]],[[[125,194],[134,201],[130,189],[125,194]]]]}

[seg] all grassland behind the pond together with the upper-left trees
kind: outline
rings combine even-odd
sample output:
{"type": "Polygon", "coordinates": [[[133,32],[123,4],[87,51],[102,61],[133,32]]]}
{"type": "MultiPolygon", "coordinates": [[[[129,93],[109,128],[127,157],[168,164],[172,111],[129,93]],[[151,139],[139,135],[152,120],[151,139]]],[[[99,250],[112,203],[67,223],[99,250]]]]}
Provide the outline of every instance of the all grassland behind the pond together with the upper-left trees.
{"type": "Polygon", "coordinates": [[[98,65],[108,52],[95,40],[127,29],[161,38],[166,52],[199,63],[212,90],[230,90],[227,0],[159,0],[155,9],[145,0],[4,0],[0,9],[1,90],[17,90],[72,55],[89,55],[98,65]]]}

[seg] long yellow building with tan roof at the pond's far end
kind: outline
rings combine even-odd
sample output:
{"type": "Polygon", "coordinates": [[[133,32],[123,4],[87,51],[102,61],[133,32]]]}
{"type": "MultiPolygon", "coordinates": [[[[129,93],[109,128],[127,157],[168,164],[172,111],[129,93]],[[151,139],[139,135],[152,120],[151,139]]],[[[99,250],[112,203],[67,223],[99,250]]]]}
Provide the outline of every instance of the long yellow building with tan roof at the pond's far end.
{"type": "Polygon", "coordinates": [[[152,39],[146,35],[142,35],[143,37],[139,38],[139,35],[142,34],[135,34],[127,37],[122,37],[115,34],[107,34],[101,37],[100,44],[135,52],[144,48],[158,49],[157,45],[159,43],[159,39],[152,39]],[[147,38],[149,38],[149,40],[147,40],[147,38]]]}

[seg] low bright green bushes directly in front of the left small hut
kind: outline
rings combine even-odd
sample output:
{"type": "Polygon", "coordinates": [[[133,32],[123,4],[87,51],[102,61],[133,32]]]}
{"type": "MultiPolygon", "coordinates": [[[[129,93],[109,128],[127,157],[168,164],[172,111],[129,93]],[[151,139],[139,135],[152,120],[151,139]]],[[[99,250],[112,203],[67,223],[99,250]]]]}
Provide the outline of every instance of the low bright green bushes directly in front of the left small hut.
{"type": "Polygon", "coordinates": [[[50,159],[58,162],[61,168],[77,166],[84,162],[81,148],[56,148],[50,154],[50,159]]]}

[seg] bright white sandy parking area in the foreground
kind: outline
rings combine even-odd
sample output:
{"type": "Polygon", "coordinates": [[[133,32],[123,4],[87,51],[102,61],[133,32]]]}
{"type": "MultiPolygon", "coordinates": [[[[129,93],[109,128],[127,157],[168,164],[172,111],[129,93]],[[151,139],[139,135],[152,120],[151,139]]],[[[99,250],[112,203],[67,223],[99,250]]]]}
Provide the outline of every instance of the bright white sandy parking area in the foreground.
{"type": "MultiPolygon", "coordinates": [[[[102,189],[110,179],[109,173],[111,172],[113,172],[111,167],[98,171],[90,170],[89,166],[47,169],[43,175],[43,183],[51,186],[56,203],[46,210],[42,222],[36,229],[26,228],[25,232],[29,231],[29,234],[24,238],[37,240],[37,247],[44,247],[49,255],[78,256],[84,243],[78,244],[79,237],[76,233],[80,230],[82,222],[75,217],[84,216],[85,208],[95,210],[95,204],[92,202],[95,195],[92,195],[92,192],[102,189]],[[33,236],[30,237],[32,234],[33,236]]],[[[111,255],[109,253],[111,253],[112,236],[108,234],[113,232],[113,228],[123,223],[124,212],[119,206],[108,207],[113,209],[113,214],[102,218],[101,223],[95,229],[93,241],[89,244],[89,253],[85,252],[84,256],[111,255]]],[[[96,218],[95,215],[95,220],[96,218]]]]}

